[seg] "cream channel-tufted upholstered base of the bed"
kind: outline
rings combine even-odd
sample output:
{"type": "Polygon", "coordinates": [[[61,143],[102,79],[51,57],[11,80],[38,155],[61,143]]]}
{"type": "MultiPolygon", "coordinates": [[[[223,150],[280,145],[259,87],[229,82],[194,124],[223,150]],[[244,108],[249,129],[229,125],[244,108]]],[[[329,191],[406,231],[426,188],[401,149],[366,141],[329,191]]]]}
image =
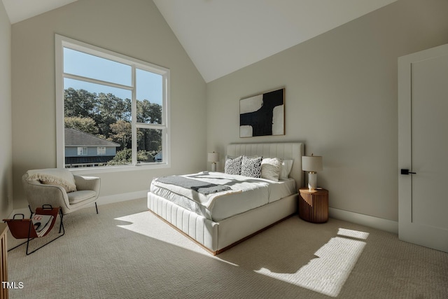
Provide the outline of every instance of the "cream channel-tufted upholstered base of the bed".
{"type": "Polygon", "coordinates": [[[244,213],[211,221],[165,198],[148,192],[148,209],[216,255],[297,213],[298,194],[244,213]]]}

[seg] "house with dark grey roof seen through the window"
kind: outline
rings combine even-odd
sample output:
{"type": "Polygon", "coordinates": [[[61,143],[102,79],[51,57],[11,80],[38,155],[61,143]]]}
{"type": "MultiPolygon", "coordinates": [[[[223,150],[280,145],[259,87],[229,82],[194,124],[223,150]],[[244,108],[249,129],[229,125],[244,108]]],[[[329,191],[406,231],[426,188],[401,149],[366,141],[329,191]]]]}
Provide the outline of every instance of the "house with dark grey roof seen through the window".
{"type": "Polygon", "coordinates": [[[103,165],[115,157],[120,144],[80,130],[65,128],[65,167],[103,165]]]}

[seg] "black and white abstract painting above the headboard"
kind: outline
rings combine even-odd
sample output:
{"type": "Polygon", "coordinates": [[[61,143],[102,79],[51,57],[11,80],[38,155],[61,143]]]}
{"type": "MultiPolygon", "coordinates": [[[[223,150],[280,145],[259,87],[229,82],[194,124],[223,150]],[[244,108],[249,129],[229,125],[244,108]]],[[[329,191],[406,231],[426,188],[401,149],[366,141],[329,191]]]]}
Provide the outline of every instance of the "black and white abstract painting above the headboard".
{"type": "Polygon", "coordinates": [[[284,134],[284,88],[239,101],[239,137],[284,134]]]}

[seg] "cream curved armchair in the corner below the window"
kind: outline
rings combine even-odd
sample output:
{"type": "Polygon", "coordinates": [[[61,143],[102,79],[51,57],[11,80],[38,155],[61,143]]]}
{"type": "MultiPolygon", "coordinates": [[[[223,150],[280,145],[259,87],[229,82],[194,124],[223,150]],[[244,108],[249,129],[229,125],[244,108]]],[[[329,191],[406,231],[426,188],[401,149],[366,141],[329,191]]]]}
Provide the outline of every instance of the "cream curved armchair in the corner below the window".
{"type": "Polygon", "coordinates": [[[73,176],[68,169],[34,169],[22,176],[22,183],[32,213],[43,204],[51,204],[61,207],[65,215],[94,202],[98,214],[98,177],[73,176]]]}

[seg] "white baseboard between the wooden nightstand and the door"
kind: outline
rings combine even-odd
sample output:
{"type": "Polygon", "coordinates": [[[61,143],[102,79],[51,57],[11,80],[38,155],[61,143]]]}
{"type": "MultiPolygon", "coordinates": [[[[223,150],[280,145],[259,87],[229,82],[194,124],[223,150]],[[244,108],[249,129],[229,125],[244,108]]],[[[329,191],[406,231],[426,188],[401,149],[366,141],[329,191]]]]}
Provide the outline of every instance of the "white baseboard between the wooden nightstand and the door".
{"type": "Polygon", "coordinates": [[[370,228],[377,228],[378,230],[384,230],[386,232],[392,232],[398,235],[398,221],[391,221],[388,219],[358,214],[354,213],[353,211],[344,211],[342,209],[335,208],[330,208],[329,214],[331,218],[369,226],[370,228]]]}

